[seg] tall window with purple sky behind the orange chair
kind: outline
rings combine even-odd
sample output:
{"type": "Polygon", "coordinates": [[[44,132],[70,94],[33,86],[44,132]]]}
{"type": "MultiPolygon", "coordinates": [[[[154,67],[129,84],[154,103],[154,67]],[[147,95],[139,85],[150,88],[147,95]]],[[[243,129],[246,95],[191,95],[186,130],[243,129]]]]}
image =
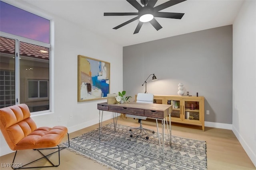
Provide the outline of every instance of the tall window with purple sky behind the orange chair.
{"type": "Polygon", "coordinates": [[[50,20],[2,1],[0,10],[0,107],[25,103],[30,112],[49,110],[50,20]]]}

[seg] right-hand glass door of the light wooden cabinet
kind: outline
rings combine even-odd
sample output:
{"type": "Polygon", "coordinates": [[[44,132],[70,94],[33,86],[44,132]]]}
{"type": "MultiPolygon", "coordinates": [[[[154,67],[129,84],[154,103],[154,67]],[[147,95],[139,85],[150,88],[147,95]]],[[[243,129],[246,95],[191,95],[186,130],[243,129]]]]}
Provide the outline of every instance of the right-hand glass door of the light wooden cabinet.
{"type": "Polygon", "coordinates": [[[198,100],[183,100],[184,121],[201,121],[201,104],[198,100]]]}

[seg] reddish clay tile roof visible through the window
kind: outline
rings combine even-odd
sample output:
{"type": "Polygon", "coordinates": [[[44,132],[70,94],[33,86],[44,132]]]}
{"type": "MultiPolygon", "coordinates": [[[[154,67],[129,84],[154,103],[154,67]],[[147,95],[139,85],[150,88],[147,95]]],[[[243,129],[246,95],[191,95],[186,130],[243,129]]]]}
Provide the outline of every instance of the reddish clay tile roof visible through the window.
{"type": "MultiPolygon", "coordinates": [[[[15,43],[12,39],[0,37],[0,53],[14,55],[15,53],[14,50],[15,50],[15,43]]],[[[23,57],[49,60],[49,48],[20,42],[20,55],[23,57]],[[45,53],[40,51],[45,51],[45,53]]]]}

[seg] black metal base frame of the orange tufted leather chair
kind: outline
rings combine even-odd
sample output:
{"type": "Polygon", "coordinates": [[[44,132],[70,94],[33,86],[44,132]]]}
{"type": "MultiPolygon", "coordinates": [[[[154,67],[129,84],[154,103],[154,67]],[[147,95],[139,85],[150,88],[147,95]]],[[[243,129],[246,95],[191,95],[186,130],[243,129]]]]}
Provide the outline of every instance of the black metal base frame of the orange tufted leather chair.
{"type": "MultiPolygon", "coordinates": [[[[68,147],[70,147],[69,134],[68,134],[68,147]]],[[[27,164],[25,164],[25,165],[20,164],[20,165],[21,165],[20,167],[14,167],[14,165],[16,165],[16,164],[14,163],[14,160],[15,160],[16,154],[17,154],[17,152],[18,152],[18,150],[16,150],[15,155],[14,155],[14,158],[13,158],[13,161],[12,161],[12,169],[15,170],[15,169],[28,169],[28,168],[48,168],[48,167],[57,167],[57,166],[60,165],[60,150],[65,149],[65,148],[68,148],[68,147],[60,147],[59,145],[57,145],[57,147],[54,147],[54,148],[33,149],[33,150],[37,150],[37,151],[42,155],[42,157],[41,157],[41,158],[38,158],[38,159],[36,159],[36,160],[33,160],[32,162],[29,162],[29,163],[27,163],[27,164]],[[47,150],[48,150],[48,149],[58,149],[58,150],[55,151],[55,152],[52,152],[52,153],[50,153],[50,154],[48,154],[48,155],[44,155],[40,150],[46,150],[46,149],[47,149],[47,150]],[[56,153],[56,152],[58,152],[58,158],[59,158],[59,163],[58,163],[58,165],[54,165],[54,164],[47,158],[48,156],[50,156],[50,155],[52,155],[52,154],[54,154],[54,153],[56,153]],[[24,167],[24,166],[28,166],[28,165],[30,165],[30,164],[32,164],[32,163],[38,161],[38,160],[41,160],[41,159],[43,159],[43,158],[45,158],[50,164],[52,164],[52,166],[24,167]]]]}

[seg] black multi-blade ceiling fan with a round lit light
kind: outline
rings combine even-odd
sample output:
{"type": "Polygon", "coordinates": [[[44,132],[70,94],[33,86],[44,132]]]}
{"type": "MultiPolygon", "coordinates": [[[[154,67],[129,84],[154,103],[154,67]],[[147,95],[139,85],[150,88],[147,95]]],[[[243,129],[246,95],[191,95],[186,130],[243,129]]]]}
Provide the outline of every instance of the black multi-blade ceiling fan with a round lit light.
{"type": "Polygon", "coordinates": [[[161,29],[162,26],[158,23],[158,21],[156,21],[154,17],[181,19],[184,13],[159,12],[159,11],[165,8],[168,8],[170,6],[179,4],[180,2],[184,2],[186,0],[169,0],[158,6],[155,6],[157,0],[140,0],[142,5],[144,6],[141,6],[136,0],[126,0],[126,1],[129,2],[134,8],[136,8],[138,12],[112,12],[112,13],[106,12],[104,13],[104,16],[136,16],[137,15],[135,18],[132,18],[131,20],[128,20],[113,28],[113,29],[118,29],[128,23],[131,23],[132,21],[139,19],[140,21],[133,33],[133,34],[136,34],[140,31],[140,28],[142,27],[142,24],[144,22],[150,22],[157,31],[161,29]]]}

